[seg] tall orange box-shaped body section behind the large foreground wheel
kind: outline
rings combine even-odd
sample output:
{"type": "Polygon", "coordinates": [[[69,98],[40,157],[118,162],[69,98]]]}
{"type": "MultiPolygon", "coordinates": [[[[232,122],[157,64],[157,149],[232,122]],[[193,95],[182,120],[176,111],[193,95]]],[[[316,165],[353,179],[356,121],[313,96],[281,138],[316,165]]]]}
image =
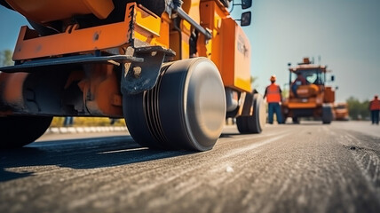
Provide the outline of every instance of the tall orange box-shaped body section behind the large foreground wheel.
{"type": "Polygon", "coordinates": [[[201,22],[213,39],[206,45],[198,41],[200,56],[210,58],[218,67],[223,83],[238,91],[252,91],[250,85],[250,44],[242,28],[218,1],[202,1],[201,22]],[[234,72],[232,72],[234,70],[234,72]]]}

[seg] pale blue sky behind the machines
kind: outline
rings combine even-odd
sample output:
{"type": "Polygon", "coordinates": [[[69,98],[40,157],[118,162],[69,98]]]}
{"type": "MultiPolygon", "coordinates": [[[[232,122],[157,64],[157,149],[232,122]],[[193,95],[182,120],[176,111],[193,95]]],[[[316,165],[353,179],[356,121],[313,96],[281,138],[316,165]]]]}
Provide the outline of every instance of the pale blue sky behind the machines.
{"type": "MultiPolygon", "coordinates": [[[[380,0],[253,0],[245,11],[252,12],[251,25],[243,29],[260,93],[271,75],[289,88],[288,63],[309,57],[335,75],[328,84],[338,87],[337,102],[380,95],[380,0]]],[[[233,18],[240,13],[234,6],[233,18]]],[[[28,25],[25,18],[0,6],[0,51],[13,50],[22,25],[28,25]]]]}

